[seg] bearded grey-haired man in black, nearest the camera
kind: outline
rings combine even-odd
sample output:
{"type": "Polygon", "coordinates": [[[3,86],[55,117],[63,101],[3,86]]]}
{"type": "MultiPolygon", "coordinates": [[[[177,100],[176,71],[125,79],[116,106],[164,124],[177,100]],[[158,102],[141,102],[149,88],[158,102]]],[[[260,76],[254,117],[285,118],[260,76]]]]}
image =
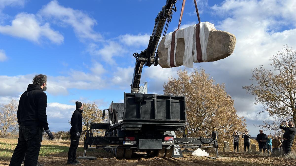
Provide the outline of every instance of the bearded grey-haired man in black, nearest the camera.
{"type": "Polygon", "coordinates": [[[20,125],[17,146],[12,154],[10,164],[20,166],[25,157],[24,165],[37,165],[42,142],[43,129],[54,139],[50,132],[46,116],[47,76],[38,74],[33,78],[27,90],[21,95],[17,109],[17,123],[20,125]]]}

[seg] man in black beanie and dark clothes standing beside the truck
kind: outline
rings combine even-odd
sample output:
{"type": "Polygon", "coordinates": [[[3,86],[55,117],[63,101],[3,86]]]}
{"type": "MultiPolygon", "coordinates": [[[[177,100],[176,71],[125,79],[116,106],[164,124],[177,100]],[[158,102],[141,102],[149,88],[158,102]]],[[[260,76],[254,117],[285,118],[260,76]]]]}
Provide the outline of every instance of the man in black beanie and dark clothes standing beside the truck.
{"type": "Polygon", "coordinates": [[[71,118],[71,129],[70,129],[70,139],[71,144],[68,152],[67,164],[77,165],[81,164],[80,161],[76,160],[76,150],[79,144],[79,138],[82,132],[82,108],[83,104],[79,101],[75,102],[76,110],[74,111],[71,118]]]}

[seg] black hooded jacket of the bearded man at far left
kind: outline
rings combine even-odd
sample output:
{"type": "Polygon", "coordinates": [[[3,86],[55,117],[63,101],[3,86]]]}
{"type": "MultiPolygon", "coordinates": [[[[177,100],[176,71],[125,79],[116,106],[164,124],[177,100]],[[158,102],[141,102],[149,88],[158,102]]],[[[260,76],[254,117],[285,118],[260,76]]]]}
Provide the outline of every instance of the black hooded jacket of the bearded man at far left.
{"type": "Polygon", "coordinates": [[[29,84],[21,95],[17,109],[17,123],[23,126],[41,126],[48,129],[46,104],[47,96],[40,86],[29,84]]]}

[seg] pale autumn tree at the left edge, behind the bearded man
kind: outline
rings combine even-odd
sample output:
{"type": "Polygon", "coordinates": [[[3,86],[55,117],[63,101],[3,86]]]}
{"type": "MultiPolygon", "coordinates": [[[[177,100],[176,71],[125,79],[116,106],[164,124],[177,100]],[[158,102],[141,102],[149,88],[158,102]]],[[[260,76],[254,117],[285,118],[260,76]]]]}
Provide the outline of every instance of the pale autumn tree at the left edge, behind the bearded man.
{"type": "Polygon", "coordinates": [[[0,106],[0,137],[6,138],[18,129],[16,100],[0,106]]]}

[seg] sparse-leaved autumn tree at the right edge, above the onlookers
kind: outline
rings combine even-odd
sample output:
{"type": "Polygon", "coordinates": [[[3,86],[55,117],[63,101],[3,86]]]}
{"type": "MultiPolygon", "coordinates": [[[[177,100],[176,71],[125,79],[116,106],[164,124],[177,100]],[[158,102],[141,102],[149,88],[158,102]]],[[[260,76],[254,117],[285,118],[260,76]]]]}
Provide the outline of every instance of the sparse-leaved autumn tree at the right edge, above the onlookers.
{"type": "Polygon", "coordinates": [[[296,122],[296,51],[285,45],[270,58],[274,71],[259,66],[252,70],[251,80],[256,85],[244,86],[247,93],[255,95],[255,104],[262,104],[258,113],[268,113],[273,122],[263,121],[268,129],[279,129],[282,120],[296,122]]]}

